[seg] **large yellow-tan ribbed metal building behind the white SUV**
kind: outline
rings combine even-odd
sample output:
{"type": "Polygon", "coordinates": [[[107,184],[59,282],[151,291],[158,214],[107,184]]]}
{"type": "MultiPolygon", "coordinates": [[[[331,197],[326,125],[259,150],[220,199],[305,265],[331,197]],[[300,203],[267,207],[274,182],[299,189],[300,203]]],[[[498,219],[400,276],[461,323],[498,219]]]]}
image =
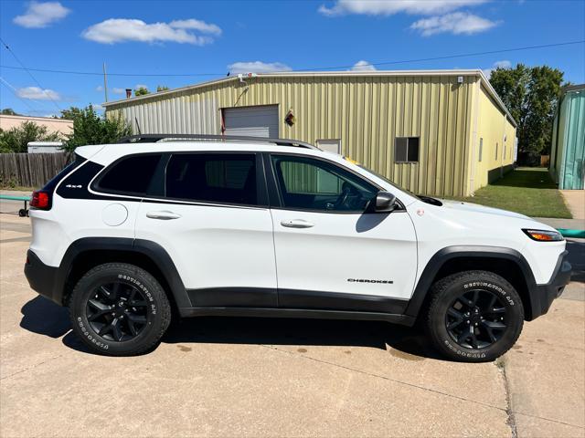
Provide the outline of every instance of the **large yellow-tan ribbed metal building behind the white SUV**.
{"type": "Polygon", "coordinates": [[[481,70],[240,75],[104,106],[135,133],[309,141],[438,196],[473,193],[515,156],[516,121],[481,70]]]}

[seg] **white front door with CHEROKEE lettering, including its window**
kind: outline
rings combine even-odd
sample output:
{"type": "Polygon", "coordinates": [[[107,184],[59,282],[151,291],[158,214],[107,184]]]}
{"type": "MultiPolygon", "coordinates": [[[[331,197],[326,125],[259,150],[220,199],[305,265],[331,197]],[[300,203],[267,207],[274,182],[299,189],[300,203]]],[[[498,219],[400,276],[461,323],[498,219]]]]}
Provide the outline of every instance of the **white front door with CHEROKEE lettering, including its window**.
{"type": "Polygon", "coordinates": [[[265,158],[279,306],[401,313],[414,287],[414,225],[402,208],[366,213],[379,188],[338,163],[265,158]]]}

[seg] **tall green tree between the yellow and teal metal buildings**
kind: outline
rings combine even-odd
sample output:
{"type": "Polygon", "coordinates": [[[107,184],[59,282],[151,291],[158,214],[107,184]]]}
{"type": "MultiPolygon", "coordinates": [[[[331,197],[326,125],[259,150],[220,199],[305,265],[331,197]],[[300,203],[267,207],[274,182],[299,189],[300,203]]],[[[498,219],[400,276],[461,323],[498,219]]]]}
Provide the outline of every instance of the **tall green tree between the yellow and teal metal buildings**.
{"type": "Polygon", "coordinates": [[[518,64],[516,68],[496,68],[490,83],[518,124],[518,161],[540,162],[540,155],[550,147],[563,72],[518,64]]]}

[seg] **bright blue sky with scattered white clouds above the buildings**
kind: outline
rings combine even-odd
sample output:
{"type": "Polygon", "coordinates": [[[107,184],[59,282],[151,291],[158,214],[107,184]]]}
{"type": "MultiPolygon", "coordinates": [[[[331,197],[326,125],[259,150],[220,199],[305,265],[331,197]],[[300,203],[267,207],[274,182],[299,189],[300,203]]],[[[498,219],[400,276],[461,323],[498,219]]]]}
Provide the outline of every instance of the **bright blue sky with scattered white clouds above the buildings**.
{"type": "Polygon", "coordinates": [[[524,63],[585,82],[585,0],[0,0],[0,37],[0,108],[35,116],[101,109],[103,63],[110,101],[124,89],[252,71],[481,68],[489,76],[524,63]]]}

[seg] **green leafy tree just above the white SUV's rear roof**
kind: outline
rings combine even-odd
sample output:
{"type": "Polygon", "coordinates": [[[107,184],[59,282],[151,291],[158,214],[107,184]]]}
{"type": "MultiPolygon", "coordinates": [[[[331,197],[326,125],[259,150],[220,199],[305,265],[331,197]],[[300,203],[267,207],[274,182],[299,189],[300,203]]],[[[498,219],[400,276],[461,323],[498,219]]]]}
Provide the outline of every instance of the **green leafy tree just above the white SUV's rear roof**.
{"type": "Polygon", "coordinates": [[[100,116],[90,105],[73,119],[73,132],[68,135],[64,149],[73,151],[86,144],[106,144],[132,135],[132,128],[118,117],[100,116]]]}

